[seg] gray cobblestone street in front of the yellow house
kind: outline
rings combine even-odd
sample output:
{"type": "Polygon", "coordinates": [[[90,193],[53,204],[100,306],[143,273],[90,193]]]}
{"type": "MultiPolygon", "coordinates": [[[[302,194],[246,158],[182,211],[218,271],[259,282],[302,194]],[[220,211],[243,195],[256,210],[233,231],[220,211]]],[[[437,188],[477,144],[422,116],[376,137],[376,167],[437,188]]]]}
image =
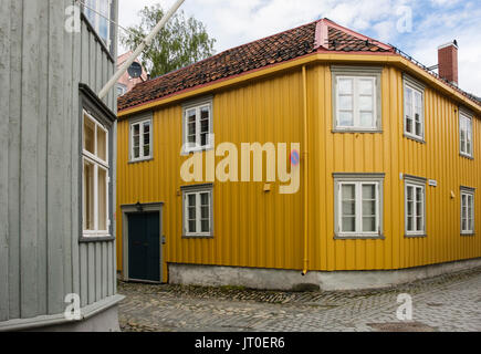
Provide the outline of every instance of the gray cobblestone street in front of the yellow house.
{"type": "Polygon", "coordinates": [[[119,282],[123,331],[481,331],[481,269],[356,292],[273,292],[119,282]],[[412,296],[401,323],[398,295],[412,296]]]}

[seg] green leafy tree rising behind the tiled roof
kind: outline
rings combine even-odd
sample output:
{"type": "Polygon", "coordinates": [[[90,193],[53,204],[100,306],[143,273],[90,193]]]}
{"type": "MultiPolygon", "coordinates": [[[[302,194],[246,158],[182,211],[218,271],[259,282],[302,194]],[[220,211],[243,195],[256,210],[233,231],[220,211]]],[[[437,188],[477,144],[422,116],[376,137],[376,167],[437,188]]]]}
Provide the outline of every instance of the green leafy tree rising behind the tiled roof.
{"type": "MultiPolygon", "coordinates": [[[[164,14],[160,4],[140,10],[140,24],[128,28],[128,32],[121,38],[124,46],[135,50],[164,14]]],[[[139,60],[150,76],[156,77],[211,56],[215,42],[202,22],[192,17],[186,19],[180,11],[170,18],[139,60]]]]}

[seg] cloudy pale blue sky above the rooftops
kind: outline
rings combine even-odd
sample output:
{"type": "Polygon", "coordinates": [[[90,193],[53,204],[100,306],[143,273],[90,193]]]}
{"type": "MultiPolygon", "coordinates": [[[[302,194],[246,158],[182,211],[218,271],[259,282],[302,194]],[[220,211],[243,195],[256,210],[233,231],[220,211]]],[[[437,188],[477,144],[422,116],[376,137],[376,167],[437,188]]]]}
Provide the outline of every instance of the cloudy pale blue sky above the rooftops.
{"type": "MultiPolygon", "coordinates": [[[[145,6],[167,9],[175,0],[119,2],[121,25],[128,27],[145,6]]],[[[437,64],[438,45],[456,39],[460,87],[481,96],[481,0],[186,0],[181,10],[206,24],[217,52],[320,18],[394,44],[427,66],[437,64]]]]}

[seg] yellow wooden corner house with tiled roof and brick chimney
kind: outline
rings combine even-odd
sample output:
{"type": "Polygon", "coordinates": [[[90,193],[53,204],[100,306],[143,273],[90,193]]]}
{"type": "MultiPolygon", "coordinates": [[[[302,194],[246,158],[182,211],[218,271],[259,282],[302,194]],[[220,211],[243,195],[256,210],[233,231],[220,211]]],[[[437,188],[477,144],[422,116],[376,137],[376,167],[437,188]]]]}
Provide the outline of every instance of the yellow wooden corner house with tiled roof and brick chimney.
{"type": "Polygon", "coordinates": [[[126,280],[384,287],[481,263],[481,102],[322,19],[118,101],[126,280]],[[199,168],[200,166],[200,168],[199,168]]]}

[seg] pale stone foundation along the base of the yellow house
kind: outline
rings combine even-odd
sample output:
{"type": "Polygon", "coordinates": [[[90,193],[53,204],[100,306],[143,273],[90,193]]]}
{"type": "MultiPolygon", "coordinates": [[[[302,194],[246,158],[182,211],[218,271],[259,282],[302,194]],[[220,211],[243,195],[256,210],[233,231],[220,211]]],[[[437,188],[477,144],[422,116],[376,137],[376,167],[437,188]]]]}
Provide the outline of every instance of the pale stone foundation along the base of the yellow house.
{"type": "Polygon", "coordinates": [[[283,291],[345,291],[383,289],[415,280],[432,278],[481,267],[481,258],[400,270],[374,271],[301,271],[169,263],[169,282],[201,287],[244,287],[283,291]]]}

